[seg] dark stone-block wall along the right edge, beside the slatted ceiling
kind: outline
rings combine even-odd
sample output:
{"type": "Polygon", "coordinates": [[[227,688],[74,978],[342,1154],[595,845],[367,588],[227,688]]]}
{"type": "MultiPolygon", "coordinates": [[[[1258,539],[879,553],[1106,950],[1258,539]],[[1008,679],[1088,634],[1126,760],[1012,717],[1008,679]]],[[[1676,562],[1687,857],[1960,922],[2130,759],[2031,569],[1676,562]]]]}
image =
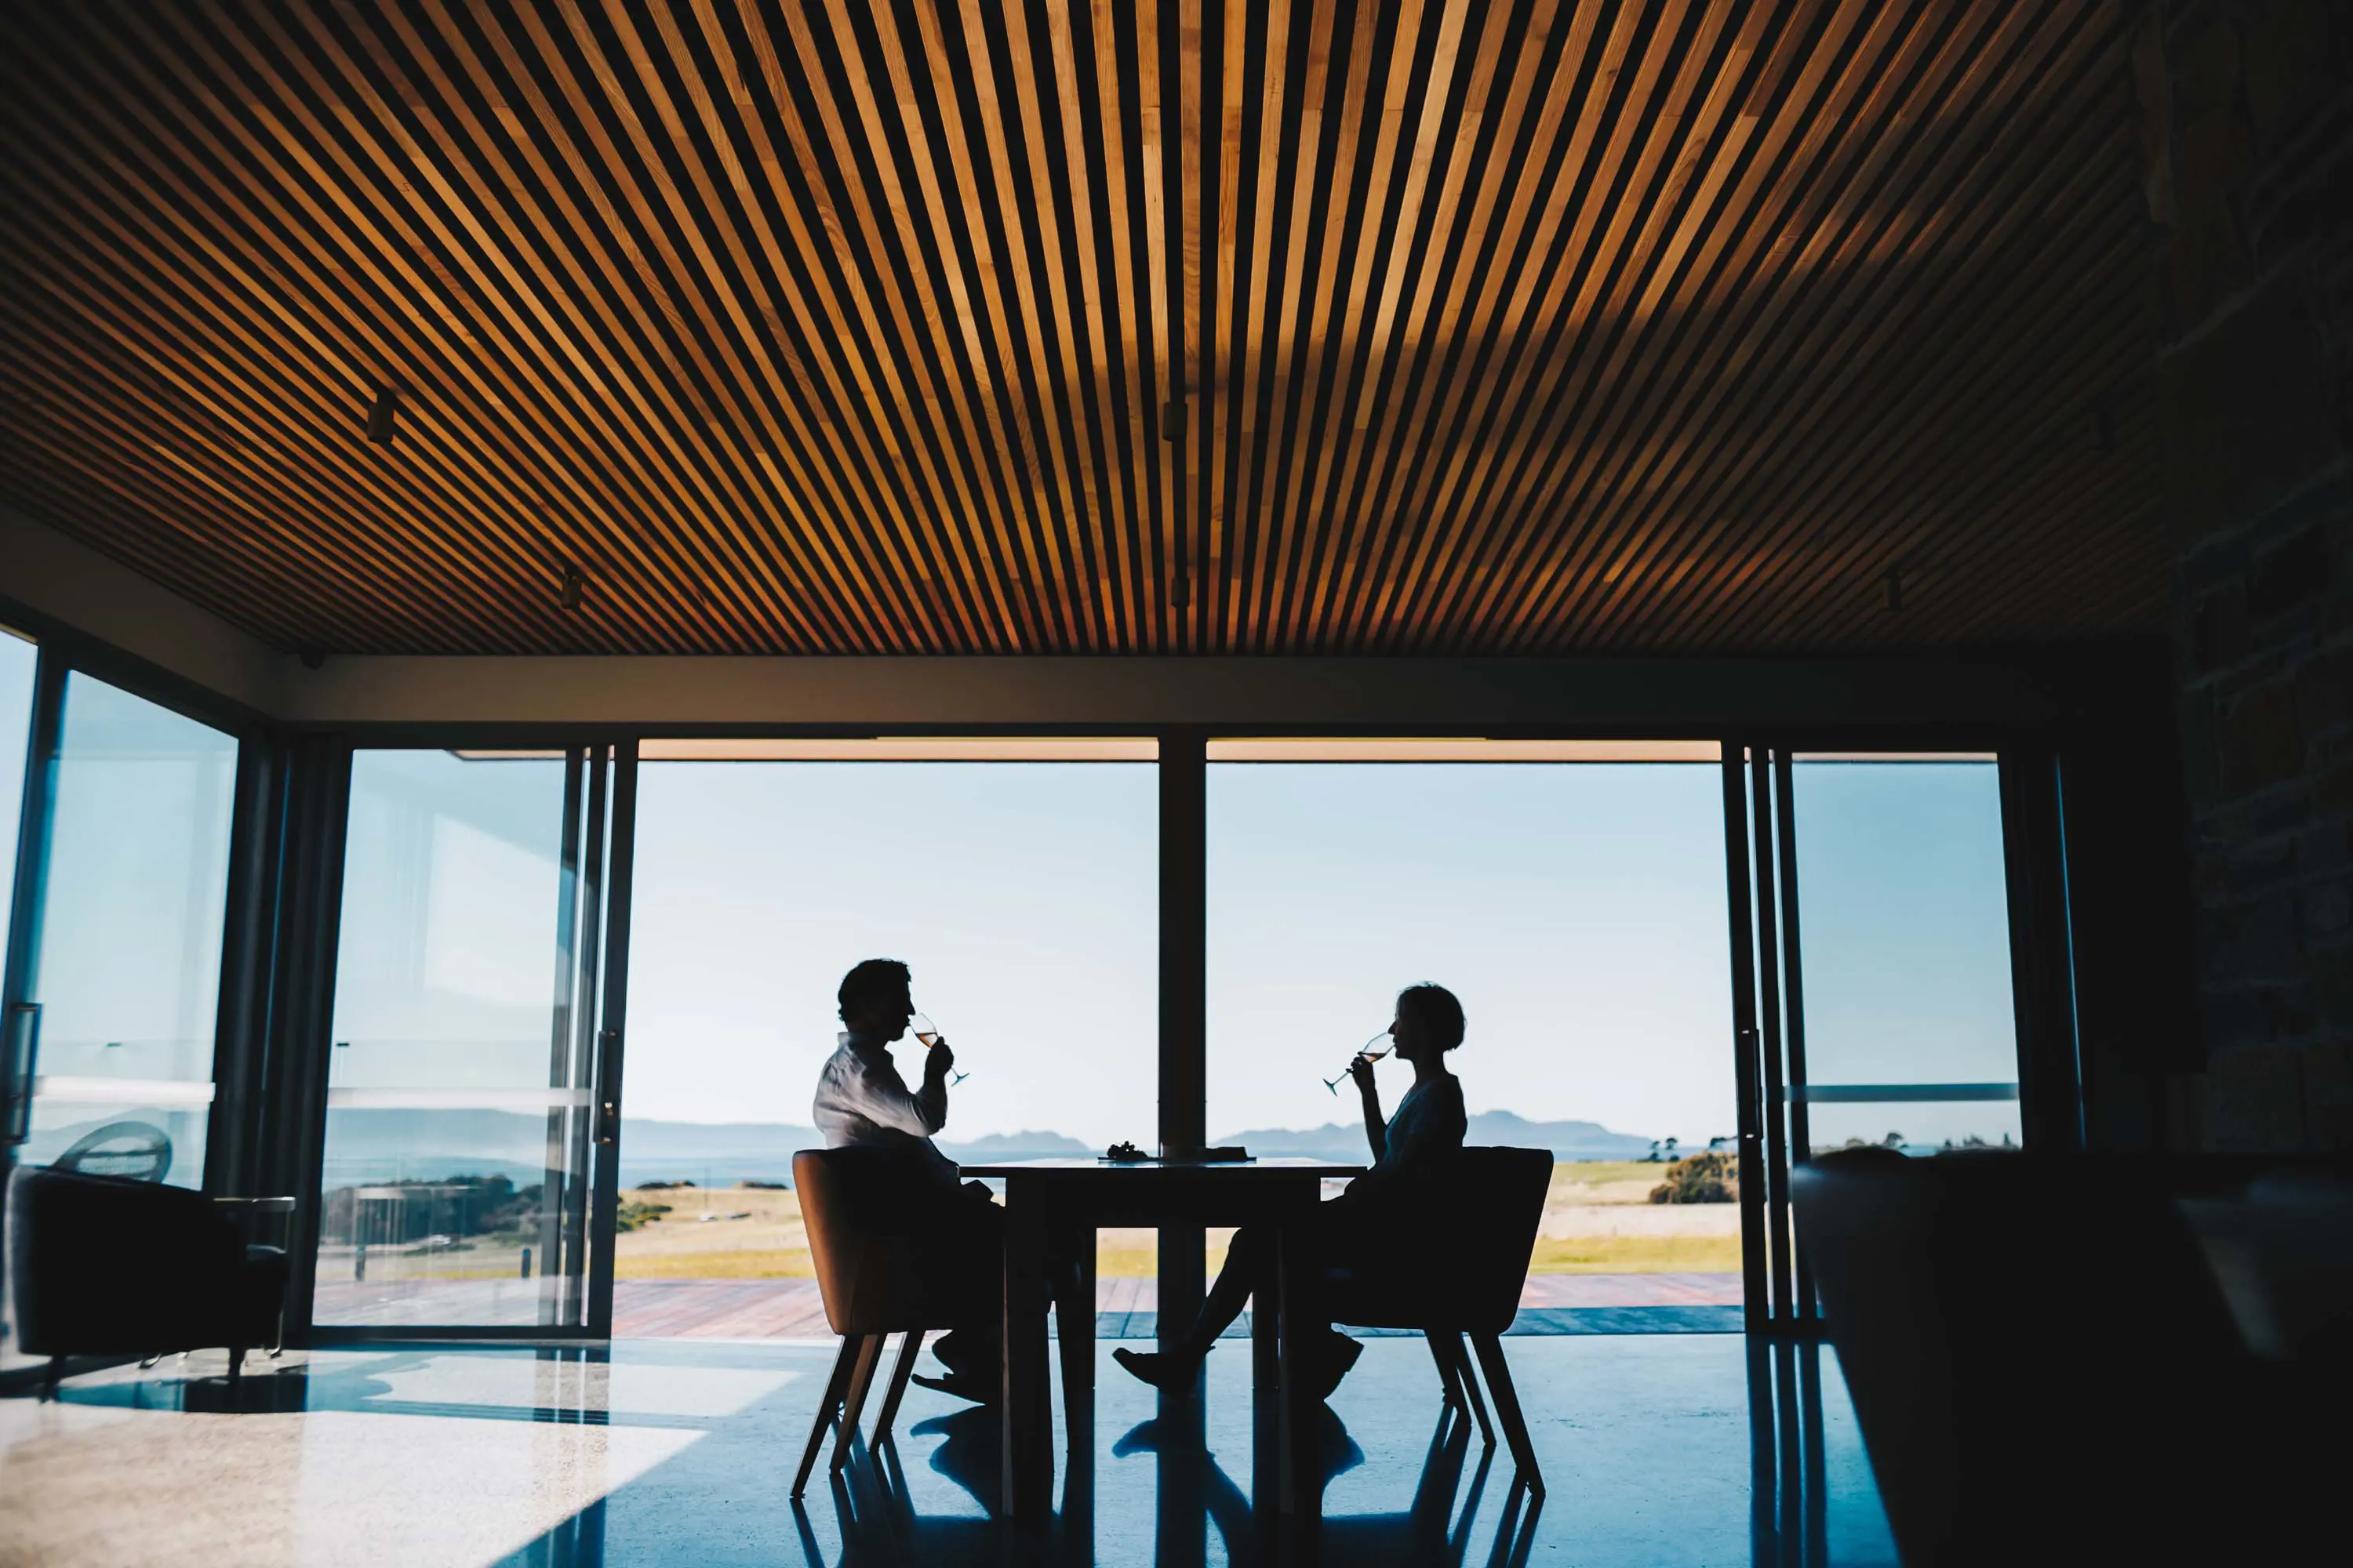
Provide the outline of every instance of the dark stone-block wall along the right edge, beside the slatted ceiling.
{"type": "Polygon", "coordinates": [[[2186,1135],[2353,1147],[2353,2],[2132,19],[2193,818],[2186,1135]]]}

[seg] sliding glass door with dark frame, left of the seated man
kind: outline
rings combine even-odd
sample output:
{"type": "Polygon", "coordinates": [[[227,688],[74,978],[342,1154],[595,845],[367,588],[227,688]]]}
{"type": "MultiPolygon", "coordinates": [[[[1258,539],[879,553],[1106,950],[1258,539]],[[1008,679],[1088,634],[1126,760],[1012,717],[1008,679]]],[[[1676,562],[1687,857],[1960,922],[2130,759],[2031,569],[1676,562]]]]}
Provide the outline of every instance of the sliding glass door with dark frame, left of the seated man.
{"type": "Polygon", "coordinates": [[[612,773],[602,748],[353,757],[318,1328],[602,1331],[612,773]]]}

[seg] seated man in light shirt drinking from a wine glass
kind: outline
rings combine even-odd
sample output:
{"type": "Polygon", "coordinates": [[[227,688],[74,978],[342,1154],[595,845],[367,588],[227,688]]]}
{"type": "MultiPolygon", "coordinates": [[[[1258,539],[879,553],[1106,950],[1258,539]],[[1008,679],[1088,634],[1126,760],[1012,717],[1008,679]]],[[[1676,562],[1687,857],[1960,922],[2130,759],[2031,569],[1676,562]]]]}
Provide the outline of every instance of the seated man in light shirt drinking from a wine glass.
{"type": "Polygon", "coordinates": [[[955,1051],[946,1039],[922,1058],[922,1088],[908,1088],[892,1060],[915,1016],[911,976],[899,959],[866,959],[842,976],[840,1046],[816,1074],[812,1117],[828,1150],[882,1147],[899,1154],[901,1199],[911,1229],[936,1234],[941,1269],[962,1274],[955,1295],[969,1302],[962,1324],[932,1342],[946,1378],[915,1378],[960,1399],[993,1403],[1002,1387],[1000,1305],[1005,1279],[1005,1211],[988,1187],[958,1180],[955,1161],[932,1133],[948,1124],[948,1072],[955,1051]]]}

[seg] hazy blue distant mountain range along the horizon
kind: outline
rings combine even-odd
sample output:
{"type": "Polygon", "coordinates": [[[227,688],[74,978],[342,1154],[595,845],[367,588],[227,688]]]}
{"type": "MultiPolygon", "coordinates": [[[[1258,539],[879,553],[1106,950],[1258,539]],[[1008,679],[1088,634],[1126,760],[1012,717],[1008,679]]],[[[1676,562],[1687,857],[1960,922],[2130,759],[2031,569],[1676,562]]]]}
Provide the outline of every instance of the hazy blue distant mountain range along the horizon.
{"type": "MultiPolygon", "coordinates": [[[[504,1110],[329,1110],[327,1185],[492,1175],[518,1185],[541,1178],[546,1164],[546,1117],[504,1110]]],[[[1508,1110],[1471,1117],[1471,1143],[1551,1150],[1553,1159],[1642,1159],[1649,1140],[1612,1133],[1598,1121],[1527,1121],[1508,1110]]],[[[784,1182],[793,1175],[793,1152],[819,1147],[814,1128],[788,1121],[649,1121],[621,1124],[621,1185],[692,1180],[729,1185],[744,1180],[784,1182]]],[[[1306,1159],[1365,1159],[1362,1124],[1315,1128],[1252,1128],[1219,1138],[1252,1154],[1306,1159]]],[[[1066,1159],[1096,1150],[1066,1133],[988,1133],[960,1143],[941,1140],[941,1152],[960,1164],[1014,1159],[1066,1159]]]]}

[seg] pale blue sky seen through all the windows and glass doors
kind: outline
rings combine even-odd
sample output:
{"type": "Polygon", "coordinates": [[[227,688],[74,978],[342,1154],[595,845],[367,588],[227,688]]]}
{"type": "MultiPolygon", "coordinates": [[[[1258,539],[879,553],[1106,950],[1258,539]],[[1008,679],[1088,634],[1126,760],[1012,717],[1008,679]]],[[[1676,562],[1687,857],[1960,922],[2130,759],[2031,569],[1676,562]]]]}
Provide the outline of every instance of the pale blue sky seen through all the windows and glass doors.
{"type": "MultiPolygon", "coordinates": [[[[26,665],[0,668],[0,736],[24,731],[28,656],[0,639],[0,661],[26,665]]],[[[59,804],[73,875],[42,985],[52,1072],[85,1041],[169,1056],[207,1032],[233,759],[212,731],[75,686],[68,726],[120,729],[129,750],[59,804]],[[125,940],[155,952],[125,966],[125,940]]],[[[555,762],[360,757],[336,994],[336,1039],[355,1044],[336,1086],[546,1086],[560,799],[555,762]]],[[[1814,1081],[2012,1079],[1995,769],[1800,762],[1798,830],[1814,1081]]],[[[918,1004],[972,1072],[951,1135],[1151,1145],[1155,879],[1151,764],[649,762],[628,1110],[805,1124],[833,987],[887,954],[913,964],[918,1004]]],[[[1713,764],[1214,764],[1207,957],[1212,1135],[1351,1121],[1320,1079],[1414,980],[1464,999],[1454,1065],[1473,1110],[1692,1145],[1732,1131],[1713,764]]],[[[920,1072],[913,1046],[904,1060],[920,1072]]],[[[1381,1079],[1395,1103],[1407,1070],[1381,1079]]],[[[2014,1133],[2017,1110],[1814,1121],[1817,1143],[1934,1143],[2014,1133]]]]}

